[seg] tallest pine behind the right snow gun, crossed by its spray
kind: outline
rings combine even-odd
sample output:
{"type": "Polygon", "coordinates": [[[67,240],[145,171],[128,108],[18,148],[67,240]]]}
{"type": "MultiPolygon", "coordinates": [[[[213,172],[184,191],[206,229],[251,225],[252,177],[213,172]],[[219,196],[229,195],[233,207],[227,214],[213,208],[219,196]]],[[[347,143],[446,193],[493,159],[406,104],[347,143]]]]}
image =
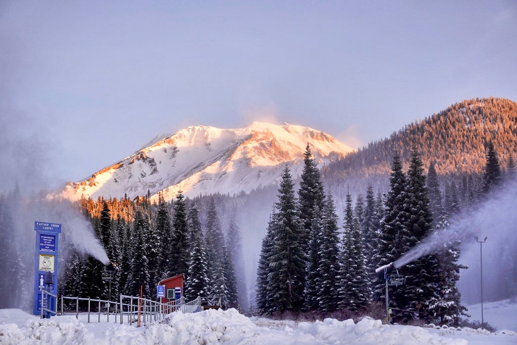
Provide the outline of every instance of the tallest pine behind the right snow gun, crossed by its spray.
{"type": "MultiPolygon", "coordinates": [[[[416,148],[412,149],[407,179],[405,184],[405,217],[403,226],[399,227],[396,247],[401,255],[419,244],[432,231],[432,214],[429,206],[428,189],[423,175],[423,165],[416,148]]],[[[396,258],[398,259],[398,257],[396,258]]],[[[421,257],[400,268],[406,284],[393,294],[393,301],[401,309],[421,311],[418,318],[430,320],[430,302],[436,297],[436,275],[438,264],[435,255],[421,257]]],[[[407,321],[415,318],[414,312],[399,311],[397,318],[407,321]]]]}

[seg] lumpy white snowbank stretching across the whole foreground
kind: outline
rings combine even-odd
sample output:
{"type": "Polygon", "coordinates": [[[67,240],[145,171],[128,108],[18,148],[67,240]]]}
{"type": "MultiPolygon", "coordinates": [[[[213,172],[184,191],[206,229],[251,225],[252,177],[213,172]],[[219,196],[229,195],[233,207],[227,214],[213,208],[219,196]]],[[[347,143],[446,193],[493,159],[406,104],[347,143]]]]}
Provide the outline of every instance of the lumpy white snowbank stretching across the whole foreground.
{"type": "MultiPolygon", "coordinates": [[[[515,314],[514,314],[515,315],[515,314]]],[[[514,316],[511,316],[514,318],[514,316]]],[[[513,331],[385,325],[364,318],[316,322],[248,318],[235,309],[175,312],[146,327],[84,323],[72,316],[40,320],[19,309],[0,309],[3,344],[495,344],[517,343],[513,331]]]]}

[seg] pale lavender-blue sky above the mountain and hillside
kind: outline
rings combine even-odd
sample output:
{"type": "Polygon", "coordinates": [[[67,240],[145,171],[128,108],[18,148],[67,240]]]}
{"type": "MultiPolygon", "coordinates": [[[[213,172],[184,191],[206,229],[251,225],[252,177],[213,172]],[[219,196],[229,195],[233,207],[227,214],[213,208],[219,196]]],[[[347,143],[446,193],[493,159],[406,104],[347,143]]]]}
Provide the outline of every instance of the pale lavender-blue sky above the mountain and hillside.
{"type": "Polygon", "coordinates": [[[516,61],[515,1],[1,0],[0,145],[21,165],[2,174],[77,181],[194,124],[363,146],[463,99],[517,101],[516,61]]]}

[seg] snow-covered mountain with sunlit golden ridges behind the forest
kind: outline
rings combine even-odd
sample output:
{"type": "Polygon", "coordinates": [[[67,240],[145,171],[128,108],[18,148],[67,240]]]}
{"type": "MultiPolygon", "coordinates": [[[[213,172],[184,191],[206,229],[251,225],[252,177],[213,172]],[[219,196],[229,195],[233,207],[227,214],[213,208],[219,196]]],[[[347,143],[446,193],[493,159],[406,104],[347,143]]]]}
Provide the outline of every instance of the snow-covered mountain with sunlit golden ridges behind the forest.
{"type": "Polygon", "coordinates": [[[320,165],[353,151],[324,132],[287,123],[253,122],[240,129],[191,126],[158,136],[91,178],[67,183],[60,196],[134,198],[150,191],[154,198],[162,192],[170,200],[180,190],[190,197],[249,193],[278,182],[285,163],[294,178],[299,176],[307,143],[320,165]]]}

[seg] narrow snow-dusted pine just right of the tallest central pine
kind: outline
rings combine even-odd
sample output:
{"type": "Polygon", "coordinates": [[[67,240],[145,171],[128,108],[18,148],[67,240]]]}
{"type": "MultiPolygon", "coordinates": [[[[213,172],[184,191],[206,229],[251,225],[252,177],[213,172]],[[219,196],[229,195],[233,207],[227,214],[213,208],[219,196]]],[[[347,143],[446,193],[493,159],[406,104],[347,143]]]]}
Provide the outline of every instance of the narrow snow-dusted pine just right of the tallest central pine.
{"type": "Polygon", "coordinates": [[[317,272],[320,276],[320,284],[317,291],[318,307],[321,311],[336,310],[338,301],[338,273],[339,273],[339,226],[338,215],[332,195],[327,193],[323,201],[322,210],[322,240],[321,260],[318,263],[317,272]]]}

